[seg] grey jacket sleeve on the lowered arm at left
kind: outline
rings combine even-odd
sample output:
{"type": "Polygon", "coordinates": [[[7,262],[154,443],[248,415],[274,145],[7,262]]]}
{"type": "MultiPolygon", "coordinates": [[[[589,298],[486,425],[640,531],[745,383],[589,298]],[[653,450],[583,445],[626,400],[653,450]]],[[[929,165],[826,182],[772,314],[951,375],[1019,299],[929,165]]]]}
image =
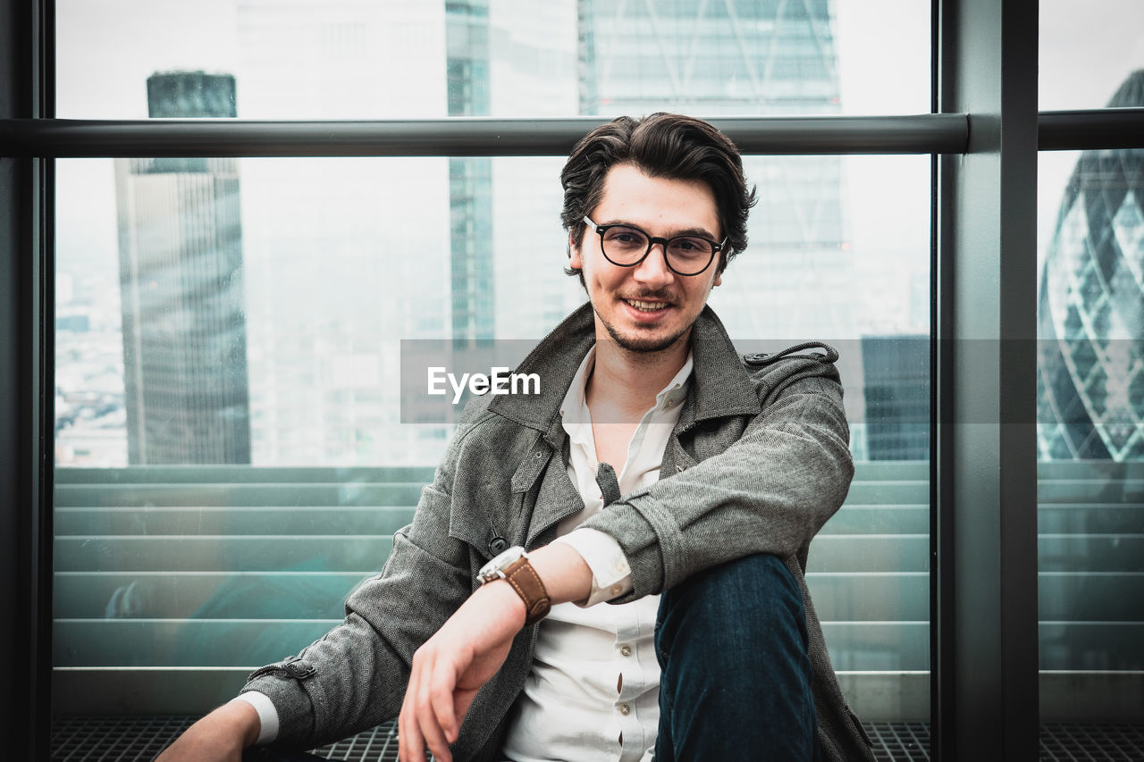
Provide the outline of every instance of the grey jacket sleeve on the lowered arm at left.
{"type": "Polygon", "coordinates": [[[413,652],[471,593],[467,546],[450,537],[452,471],[470,430],[462,420],[413,523],[394,535],[381,574],[349,596],[344,621],[251,675],[243,691],[265,693],[278,713],[273,745],[312,748],[400,712],[413,652]]]}

